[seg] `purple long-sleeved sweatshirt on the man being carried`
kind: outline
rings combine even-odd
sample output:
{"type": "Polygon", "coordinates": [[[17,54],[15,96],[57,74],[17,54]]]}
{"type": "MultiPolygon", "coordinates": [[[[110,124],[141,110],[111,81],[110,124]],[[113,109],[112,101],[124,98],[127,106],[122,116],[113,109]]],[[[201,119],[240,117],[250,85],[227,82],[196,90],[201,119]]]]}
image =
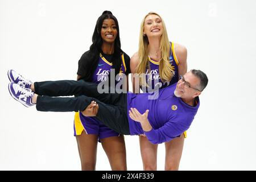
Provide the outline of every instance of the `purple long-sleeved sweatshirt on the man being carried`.
{"type": "Polygon", "coordinates": [[[154,93],[127,94],[127,110],[135,107],[143,114],[148,109],[148,121],[152,126],[152,130],[143,131],[141,123],[128,117],[131,135],[145,134],[151,143],[163,143],[188,130],[199,108],[199,97],[196,98],[196,106],[185,104],[174,95],[176,85],[160,89],[159,97],[155,100],[148,100],[148,96],[154,93]]]}

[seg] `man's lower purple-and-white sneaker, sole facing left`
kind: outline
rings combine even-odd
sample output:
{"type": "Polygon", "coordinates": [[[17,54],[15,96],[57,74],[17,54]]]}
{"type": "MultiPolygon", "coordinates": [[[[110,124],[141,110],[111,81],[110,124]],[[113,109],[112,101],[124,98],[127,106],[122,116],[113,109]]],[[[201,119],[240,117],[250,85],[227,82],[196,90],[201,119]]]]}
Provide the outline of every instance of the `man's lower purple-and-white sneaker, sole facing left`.
{"type": "Polygon", "coordinates": [[[14,82],[11,82],[8,85],[8,89],[11,96],[24,106],[30,107],[35,105],[32,103],[32,96],[34,95],[34,92],[32,92],[31,89],[24,88],[18,84],[15,84],[14,82]]]}

